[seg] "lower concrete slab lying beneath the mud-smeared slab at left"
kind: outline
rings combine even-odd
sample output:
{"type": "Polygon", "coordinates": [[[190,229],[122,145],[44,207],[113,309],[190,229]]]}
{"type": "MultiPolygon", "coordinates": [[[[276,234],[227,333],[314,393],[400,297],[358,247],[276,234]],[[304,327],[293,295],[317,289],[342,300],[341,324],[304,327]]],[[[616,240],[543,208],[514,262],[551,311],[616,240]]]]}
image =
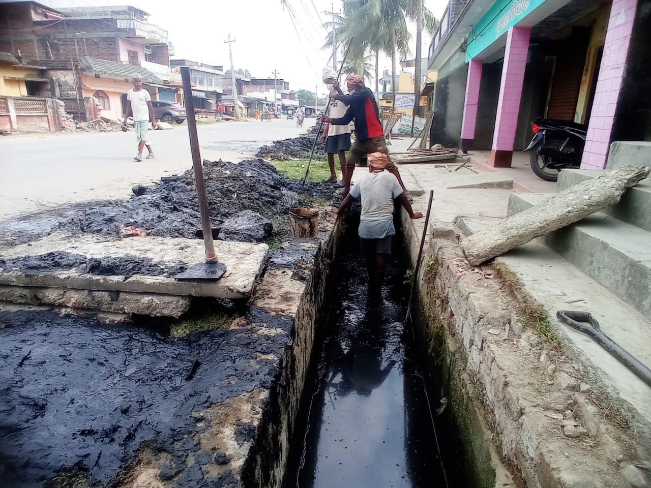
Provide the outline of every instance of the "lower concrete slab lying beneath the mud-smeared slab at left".
{"type": "Polygon", "coordinates": [[[178,318],[190,308],[192,299],[159,293],[0,285],[0,301],[25,305],[64,305],[118,314],[178,318]]]}

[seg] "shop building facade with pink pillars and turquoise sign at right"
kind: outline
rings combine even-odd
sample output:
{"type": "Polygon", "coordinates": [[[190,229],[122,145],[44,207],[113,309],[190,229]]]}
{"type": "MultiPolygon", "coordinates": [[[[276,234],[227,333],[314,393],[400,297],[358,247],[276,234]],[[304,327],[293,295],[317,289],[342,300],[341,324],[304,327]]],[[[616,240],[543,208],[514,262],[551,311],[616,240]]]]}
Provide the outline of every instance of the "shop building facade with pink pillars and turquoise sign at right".
{"type": "Polygon", "coordinates": [[[510,166],[538,116],[585,124],[584,168],[651,138],[649,0],[452,0],[429,49],[432,142],[510,166]]]}

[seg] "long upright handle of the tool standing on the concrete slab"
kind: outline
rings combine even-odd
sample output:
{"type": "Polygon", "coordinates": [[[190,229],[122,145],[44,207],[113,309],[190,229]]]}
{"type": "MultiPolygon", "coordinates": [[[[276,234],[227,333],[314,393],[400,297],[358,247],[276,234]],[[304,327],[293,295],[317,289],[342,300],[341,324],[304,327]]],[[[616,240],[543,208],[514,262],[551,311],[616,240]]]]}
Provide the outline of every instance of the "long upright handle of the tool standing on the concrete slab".
{"type": "Polygon", "coordinates": [[[199,211],[201,211],[201,226],[204,234],[204,246],[206,247],[206,261],[217,262],[215,243],[212,241],[212,226],[210,225],[208,198],[206,198],[206,182],[204,182],[203,168],[201,167],[199,138],[197,137],[197,120],[195,120],[195,105],[192,102],[192,86],[190,83],[189,67],[182,66],[181,79],[183,81],[183,98],[186,102],[187,132],[190,136],[192,165],[195,169],[195,183],[197,185],[197,195],[199,195],[199,211]]]}

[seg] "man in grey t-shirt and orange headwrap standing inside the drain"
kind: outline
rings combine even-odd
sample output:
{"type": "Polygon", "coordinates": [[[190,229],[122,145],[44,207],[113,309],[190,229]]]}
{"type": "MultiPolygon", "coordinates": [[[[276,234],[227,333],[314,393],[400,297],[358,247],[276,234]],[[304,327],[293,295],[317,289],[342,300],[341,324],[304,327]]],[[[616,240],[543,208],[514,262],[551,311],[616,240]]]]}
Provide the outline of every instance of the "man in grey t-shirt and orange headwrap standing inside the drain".
{"type": "Polygon", "coordinates": [[[398,184],[395,176],[385,172],[389,158],[385,153],[373,152],[368,155],[368,174],[357,183],[341,202],[339,214],[350,205],[353,198],[361,199],[362,213],[359,221],[360,248],[367,258],[368,290],[370,295],[378,293],[384,280],[384,270],[391,254],[393,236],[393,200],[396,200],[409,213],[412,219],[420,219],[421,212],[415,212],[398,184]]]}

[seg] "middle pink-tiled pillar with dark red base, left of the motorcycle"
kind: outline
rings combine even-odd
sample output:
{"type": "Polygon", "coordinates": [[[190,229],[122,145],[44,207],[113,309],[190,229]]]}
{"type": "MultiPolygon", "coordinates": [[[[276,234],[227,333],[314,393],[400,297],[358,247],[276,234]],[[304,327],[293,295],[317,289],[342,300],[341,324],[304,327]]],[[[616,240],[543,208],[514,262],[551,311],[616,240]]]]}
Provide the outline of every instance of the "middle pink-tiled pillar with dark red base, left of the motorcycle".
{"type": "Polygon", "coordinates": [[[530,36],[531,27],[511,27],[506,34],[506,51],[499,85],[497,119],[495,120],[490,157],[493,167],[511,167],[530,36]]]}

